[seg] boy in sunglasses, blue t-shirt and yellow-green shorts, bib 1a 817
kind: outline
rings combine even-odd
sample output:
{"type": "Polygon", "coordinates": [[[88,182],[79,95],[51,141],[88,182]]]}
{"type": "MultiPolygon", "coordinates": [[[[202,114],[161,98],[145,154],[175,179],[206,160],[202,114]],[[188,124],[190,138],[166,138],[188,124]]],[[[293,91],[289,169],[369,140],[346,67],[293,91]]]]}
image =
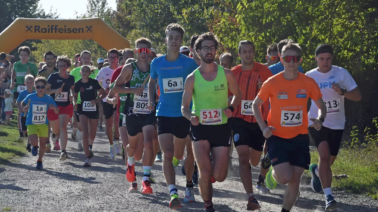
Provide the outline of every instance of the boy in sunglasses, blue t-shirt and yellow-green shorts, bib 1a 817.
{"type": "Polygon", "coordinates": [[[53,98],[45,94],[46,79],[37,77],[34,84],[37,92],[27,95],[22,101],[21,107],[23,108],[23,112],[26,113],[26,127],[30,143],[33,146],[31,148],[33,156],[37,156],[39,139],[40,151],[36,169],[42,169],[42,157],[45,154],[46,142],[48,140],[47,109],[52,109],[56,114],[59,114],[59,109],[53,98]],[[29,100],[30,103],[28,106],[29,100]],[[31,110],[29,110],[30,108],[31,110]]]}

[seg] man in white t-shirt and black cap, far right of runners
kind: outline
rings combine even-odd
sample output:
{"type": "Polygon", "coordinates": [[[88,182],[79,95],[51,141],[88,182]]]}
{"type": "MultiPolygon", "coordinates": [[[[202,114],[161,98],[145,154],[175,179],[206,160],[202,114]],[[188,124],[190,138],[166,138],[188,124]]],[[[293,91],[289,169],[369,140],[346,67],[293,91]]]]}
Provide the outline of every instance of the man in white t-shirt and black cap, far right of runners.
{"type": "MultiPolygon", "coordinates": [[[[344,98],[360,101],[361,92],[347,70],[332,65],[333,48],[330,45],[319,45],[315,55],[318,67],[308,71],[306,75],[313,78],[318,84],[324,104],[327,106],[327,116],[319,131],[312,127],[308,128],[309,135],[319,152],[319,166],[317,164],[310,166],[311,188],[314,192],[320,192],[323,187],[325,210],[335,210],[338,204],[333,200],[331,192],[332,171],[330,166],[339,152],[345,126],[344,98]]],[[[318,107],[311,100],[308,125],[310,126],[313,123],[312,120],[317,117],[319,117],[318,107]]]]}

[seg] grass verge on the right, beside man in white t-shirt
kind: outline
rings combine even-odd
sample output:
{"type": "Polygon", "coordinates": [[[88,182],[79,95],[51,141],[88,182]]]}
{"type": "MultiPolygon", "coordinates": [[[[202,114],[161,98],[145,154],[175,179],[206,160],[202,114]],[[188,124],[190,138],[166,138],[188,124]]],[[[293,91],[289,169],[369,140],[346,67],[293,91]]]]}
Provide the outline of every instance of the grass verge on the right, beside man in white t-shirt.
{"type": "MultiPolygon", "coordinates": [[[[311,151],[311,164],[318,164],[317,151],[311,151]]],[[[351,193],[369,194],[378,200],[378,147],[366,149],[341,149],[331,166],[333,175],[346,174],[349,177],[332,179],[332,188],[351,193]]],[[[311,177],[306,171],[307,177],[311,177]]]]}

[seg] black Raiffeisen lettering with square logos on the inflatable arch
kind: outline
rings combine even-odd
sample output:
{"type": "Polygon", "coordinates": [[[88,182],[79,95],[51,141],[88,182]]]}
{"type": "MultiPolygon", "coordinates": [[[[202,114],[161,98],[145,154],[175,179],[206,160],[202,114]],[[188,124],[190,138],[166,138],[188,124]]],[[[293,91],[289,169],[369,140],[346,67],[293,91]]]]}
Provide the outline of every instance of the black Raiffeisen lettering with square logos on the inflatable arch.
{"type": "Polygon", "coordinates": [[[85,26],[85,28],[71,28],[64,25],[60,27],[59,25],[25,25],[25,32],[34,32],[34,33],[91,33],[93,32],[92,26],[85,26]]]}

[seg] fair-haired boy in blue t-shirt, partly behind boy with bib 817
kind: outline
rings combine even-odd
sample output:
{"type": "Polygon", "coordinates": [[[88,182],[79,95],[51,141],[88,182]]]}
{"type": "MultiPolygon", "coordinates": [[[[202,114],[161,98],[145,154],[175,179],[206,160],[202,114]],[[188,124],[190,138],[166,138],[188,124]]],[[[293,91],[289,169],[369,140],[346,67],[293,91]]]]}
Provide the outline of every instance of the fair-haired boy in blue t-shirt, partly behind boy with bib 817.
{"type": "MultiPolygon", "coordinates": [[[[26,98],[27,95],[34,94],[36,92],[33,90],[33,87],[34,87],[33,75],[28,74],[25,76],[25,85],[26,85],[26,89],[24,91],[21,91],[19,94],[19,97],[17,98],[16,107],[19,109],[19,112],[21,112],[20,125],[21,125],[21,130],[23,133],[23,138],[25,138],[28,142],[28,144],[26,145],[26,151],[30,152],[31,151],[30,139],[28,138],[28,131],[27,131],[28,129],[26,128],[26,117],[23,116],[24,112],[23,112],[23,109],[21,108],[21,102],[26,98]]],[[[19,137],[17,138],[17,141],[22,141],[23,138],[19,137]]]]}

